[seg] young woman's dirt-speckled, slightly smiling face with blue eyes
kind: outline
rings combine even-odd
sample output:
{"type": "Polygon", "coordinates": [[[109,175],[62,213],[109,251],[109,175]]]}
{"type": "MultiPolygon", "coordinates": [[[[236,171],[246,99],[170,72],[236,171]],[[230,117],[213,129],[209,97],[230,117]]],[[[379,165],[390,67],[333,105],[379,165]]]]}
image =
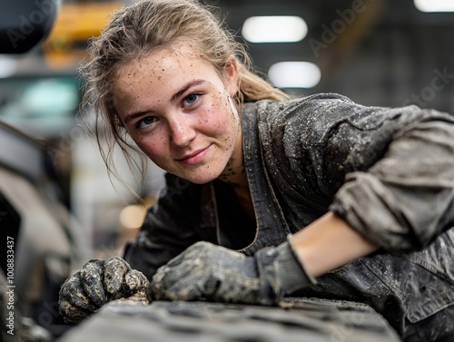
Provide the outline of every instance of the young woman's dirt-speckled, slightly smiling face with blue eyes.
{"type": "Polygon", "coordinates": [[[114,106],[156,165],[202,184],[242,161],[240,119],[230,99],[237,77],[236,64],[220,77],[187,45],[162,49],[123,67],[114,106]]]}

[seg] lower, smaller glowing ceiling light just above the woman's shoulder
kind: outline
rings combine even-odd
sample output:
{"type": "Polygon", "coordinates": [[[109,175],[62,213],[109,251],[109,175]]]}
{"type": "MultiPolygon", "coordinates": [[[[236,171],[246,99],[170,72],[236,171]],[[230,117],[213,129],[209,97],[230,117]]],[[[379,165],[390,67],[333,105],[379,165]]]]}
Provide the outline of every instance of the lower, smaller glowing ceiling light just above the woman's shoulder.
{"type": "Polygon", "coordinates": [[[268,77],[278,88],[313,88],[321,80],[321,71],[309,62],[280,62],[271,65],[268,77]]]}

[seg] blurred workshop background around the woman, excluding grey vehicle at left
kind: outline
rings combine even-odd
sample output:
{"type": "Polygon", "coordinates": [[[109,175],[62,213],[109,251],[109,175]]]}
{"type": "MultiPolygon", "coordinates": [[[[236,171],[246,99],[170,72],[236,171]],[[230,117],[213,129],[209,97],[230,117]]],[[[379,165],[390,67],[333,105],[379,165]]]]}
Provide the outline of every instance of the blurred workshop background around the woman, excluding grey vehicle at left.
{"type": "MultiPolygon", "coordinates": [[[[335,92],[363,104],[415,103],[454,112],[451,1],[205,3],[220,8],[248,45],[257,70],[288,93],[335,92]]],[[[100,253],[121,248],[118,239],[123,233],[131,238],[143,215],[143,203],[121,184],[112,186],[77,112],[81,80],[76,69],[87,40],[121,5],[63,1],[43,46],[25,55],[0,55],[0,120],[51,143],[64,203],[100,253]]],[[[161,186],[161,171],[153,165],[145,184],[133,182],[147,199],[145,206],[161,186]]]]}

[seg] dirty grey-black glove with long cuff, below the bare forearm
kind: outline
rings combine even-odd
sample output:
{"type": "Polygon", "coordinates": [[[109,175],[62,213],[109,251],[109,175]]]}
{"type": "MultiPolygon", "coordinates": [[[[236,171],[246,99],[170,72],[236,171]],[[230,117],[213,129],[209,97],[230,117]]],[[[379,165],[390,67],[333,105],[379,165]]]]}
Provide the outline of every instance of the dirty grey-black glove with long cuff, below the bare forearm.
{"type": "Polygon", "coordinates": [[[199,300],[276,305],[291,292],[315,284],[288,241],[246,257],[210,242],[197,242],[153,276],[150,300],[199,300]]]}

